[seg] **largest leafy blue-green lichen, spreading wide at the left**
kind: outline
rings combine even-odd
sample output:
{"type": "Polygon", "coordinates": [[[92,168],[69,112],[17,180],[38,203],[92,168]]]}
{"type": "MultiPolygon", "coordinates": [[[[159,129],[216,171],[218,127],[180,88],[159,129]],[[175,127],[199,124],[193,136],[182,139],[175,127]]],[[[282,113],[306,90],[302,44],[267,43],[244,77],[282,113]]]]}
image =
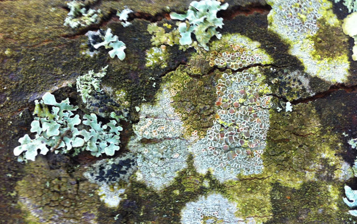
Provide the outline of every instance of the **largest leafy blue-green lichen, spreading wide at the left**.
{"type": "Polygon", "coordinates": [[[118,145],[123,128],[118,126],[116,121],[111,120],[106,125],[101,125],[95,114],[85,114],[82,124],[89,126],[89,131],[85,128],[80,130],[78,127],[81,119],[78,114],[73,113],[78,107],[70,105],[68,98],[57,103],[51,93],[46,93],[42,100],[36,100],[35,104],[34,115],[37,116],[31,123],[30,131],[36,133],[36,136],[31,139],[26,134],[19,139],[21,145],[14,149],[19,161],[35,160],[38,149],[45,155],[49,147],[55,153],[71,152],[76,155],[88,150],[95,156],[102,153],[113,155],[114,151],[120,149],[118,145]]]}

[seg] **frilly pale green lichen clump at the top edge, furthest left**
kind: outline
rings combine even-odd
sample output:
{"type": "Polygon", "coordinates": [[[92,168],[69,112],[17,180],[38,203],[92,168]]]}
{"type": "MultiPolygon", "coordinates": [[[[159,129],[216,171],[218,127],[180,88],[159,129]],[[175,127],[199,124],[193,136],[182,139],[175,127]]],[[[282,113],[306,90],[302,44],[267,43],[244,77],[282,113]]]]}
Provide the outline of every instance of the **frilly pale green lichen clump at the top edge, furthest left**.
{"type": "Polygon", "coordinates": [[[100,10],[87,10],[85,5],[81,2],[72,1],[67,3],[67,6],[70,11],[64,20],[63,25],[73,29],[78,27],[88,27],[92,24],[96,24],[102,17],[100,10]]]}

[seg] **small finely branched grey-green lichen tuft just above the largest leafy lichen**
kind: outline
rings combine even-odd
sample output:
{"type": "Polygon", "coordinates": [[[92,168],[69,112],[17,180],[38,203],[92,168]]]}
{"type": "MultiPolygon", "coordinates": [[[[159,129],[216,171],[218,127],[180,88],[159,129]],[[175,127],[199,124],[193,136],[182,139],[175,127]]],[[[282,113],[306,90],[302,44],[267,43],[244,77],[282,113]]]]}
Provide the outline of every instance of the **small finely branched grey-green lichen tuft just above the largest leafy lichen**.
{"type": "Polygon", "coordinates": [[[94,92],[102,92],[100,89],[100,79],[106,75],[107,68],[108,66],[105,66],[101,69],[101,72],[98,73],[94,73],[93,70],[90,70],[87,74],[77,78],[77,92],[80,93],[83,103],[86,103],[88,99],[92,98],[94,92]]]}

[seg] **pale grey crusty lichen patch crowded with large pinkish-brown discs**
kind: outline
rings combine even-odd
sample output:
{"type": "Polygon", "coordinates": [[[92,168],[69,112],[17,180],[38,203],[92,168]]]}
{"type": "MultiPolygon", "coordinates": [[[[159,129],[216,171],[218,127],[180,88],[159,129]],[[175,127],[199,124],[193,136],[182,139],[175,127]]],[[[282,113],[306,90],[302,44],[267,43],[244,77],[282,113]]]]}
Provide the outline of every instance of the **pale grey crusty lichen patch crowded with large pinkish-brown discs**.
{"type": "Polygon", "coordinates": [[[192,146],[198,172],[212,169],[220,181],[262,172],[271,106],[271,96],[265,95],[269,88],[262,80],[256,69],[224,73],[218,80],[216,119],[192,146]]]}

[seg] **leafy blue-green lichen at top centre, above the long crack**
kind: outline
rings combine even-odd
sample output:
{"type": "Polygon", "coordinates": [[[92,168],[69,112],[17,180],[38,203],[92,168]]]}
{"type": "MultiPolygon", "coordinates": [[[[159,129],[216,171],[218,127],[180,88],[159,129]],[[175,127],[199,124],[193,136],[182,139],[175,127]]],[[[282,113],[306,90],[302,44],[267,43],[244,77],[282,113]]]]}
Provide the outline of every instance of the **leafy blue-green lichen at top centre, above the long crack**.
{"type": "Polygon", "coordinates": [[[223,19],[217,18],[217,12],[228,8],[227,3],[220,4],[215,0],[193,1],[186,14],[170,13],[170,17],[173,20],[187,20],[187,23],[183,22],[178,26],[181,45],[192,44],[191,33],[195,35],[199,46],[205,50],[208,50],[207,43],[213,36],[220,39],[221,34],[216,29],[218,27],[222,28],[223,19]]]}

